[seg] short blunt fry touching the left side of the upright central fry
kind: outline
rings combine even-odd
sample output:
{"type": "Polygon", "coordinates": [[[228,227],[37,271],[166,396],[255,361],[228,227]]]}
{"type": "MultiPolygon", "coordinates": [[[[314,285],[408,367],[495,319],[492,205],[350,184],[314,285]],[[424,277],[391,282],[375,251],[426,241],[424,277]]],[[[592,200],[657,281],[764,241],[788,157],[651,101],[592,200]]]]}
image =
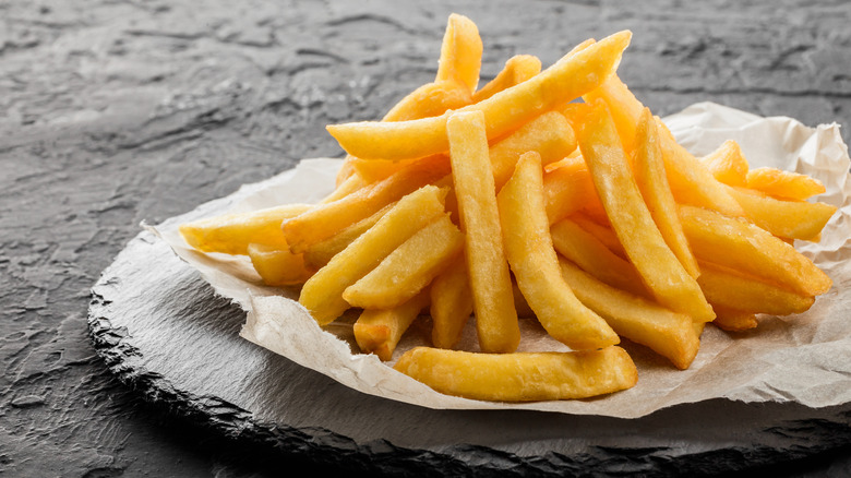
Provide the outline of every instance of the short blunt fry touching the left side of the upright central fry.
{"type": "Polygon", "coordinates": [[[352,307],[391,309],[419,294],[457,260],[464,235],[444,214],[417,231],[343,292],[352,307]]]}

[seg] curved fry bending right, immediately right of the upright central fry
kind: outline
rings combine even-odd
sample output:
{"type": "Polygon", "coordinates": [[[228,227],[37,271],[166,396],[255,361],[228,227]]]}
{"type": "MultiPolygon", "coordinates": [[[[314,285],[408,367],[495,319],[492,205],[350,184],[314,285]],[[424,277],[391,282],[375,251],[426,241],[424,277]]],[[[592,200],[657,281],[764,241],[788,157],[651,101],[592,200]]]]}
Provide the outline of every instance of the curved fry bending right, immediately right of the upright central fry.
{"type": "Polygon", "coordinates": [[[538,153],[520,156],[496,203],[505,255],[523,296],[547,333],[575,350],[620,342],[612,327],[584,306],[564,280],[543,208],[538,153]]]}

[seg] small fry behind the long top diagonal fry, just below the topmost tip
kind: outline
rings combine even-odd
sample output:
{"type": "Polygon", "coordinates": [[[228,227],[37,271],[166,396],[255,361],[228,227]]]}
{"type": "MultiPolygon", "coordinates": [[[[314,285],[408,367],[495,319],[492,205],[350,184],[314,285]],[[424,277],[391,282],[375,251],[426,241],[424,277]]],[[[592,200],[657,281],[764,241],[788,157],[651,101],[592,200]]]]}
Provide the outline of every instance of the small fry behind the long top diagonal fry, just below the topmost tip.
{"type": "Polygon", "coordinates": [[[454,80],[425,83],[401,98],[382,121],[408,121],[443,115],[472,103],[467,85],[454,80]]]}

